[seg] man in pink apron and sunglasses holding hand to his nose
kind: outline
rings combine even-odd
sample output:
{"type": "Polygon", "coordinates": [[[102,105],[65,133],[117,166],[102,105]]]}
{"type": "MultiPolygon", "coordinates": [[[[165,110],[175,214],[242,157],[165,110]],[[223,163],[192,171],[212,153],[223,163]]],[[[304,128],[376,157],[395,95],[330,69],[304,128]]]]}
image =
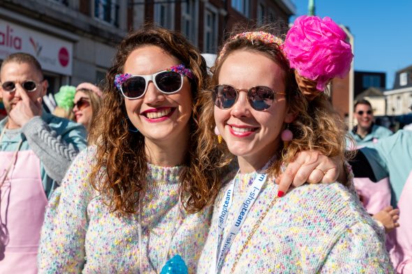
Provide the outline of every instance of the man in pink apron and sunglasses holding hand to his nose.
{"type": "Polygon", "coordinates": [[[47,81],[34,56],[7,56],[0,82],[0,273],[37,273],[47,197],[86,147],[86,131],[43,111],[47,81]]]}

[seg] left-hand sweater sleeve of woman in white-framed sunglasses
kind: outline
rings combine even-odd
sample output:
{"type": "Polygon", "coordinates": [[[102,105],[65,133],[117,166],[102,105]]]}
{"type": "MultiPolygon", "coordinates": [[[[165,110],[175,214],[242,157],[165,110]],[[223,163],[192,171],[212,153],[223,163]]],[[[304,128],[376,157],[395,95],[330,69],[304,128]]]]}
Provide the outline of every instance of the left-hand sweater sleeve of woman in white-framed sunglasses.
{"type": "Polygon", "coordinates": [[[45,212],[38,252],[39,273],[81,273],[85,263],[84,238],[88,227],[87,205],[91,157],[84,150],[73,161],[45,212]]]}

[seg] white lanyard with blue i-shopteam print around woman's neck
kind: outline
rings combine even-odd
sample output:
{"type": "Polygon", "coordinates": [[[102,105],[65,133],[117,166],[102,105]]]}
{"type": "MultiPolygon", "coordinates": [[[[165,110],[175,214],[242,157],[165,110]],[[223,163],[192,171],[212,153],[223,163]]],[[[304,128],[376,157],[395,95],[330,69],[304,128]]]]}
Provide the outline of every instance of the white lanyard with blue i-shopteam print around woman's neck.
{"type": "MultiPolygon", "coordinates": [[[[271,162],[271,161],[270,161],[271,162]]],[[[267,169],[267,166],[270,162],[263,167],[263,170],[267,169]]],[[[236,178],[236,176],[235,176],[236,178]]],[[[233,220],[233,224],[230,227],[228,236],[226,236],[225,241],[223,240],[223,229],[226,224],[226,220],[228,218],[228,213],[230,206],[232,205],[233,201],[233,190],[235,186],[235,178],[233,179],[233,183],[230,184],[228,190],[225,192],[225,196],[223,199],[223,203],[220,206],[219,210],[219,217],[217,221],[217,230],[218,230],[218,241],[217,241],[217,248],[216,248],[216,259],[211,266],[210,273],[219,273],[221,271],[221,267],[223,266],[223,259],[226,257],[226,254],[232,245],[233,241],[237,233],[239,232],[244,220],[247,218],[247,214],[250,211],[253,203],[256,201],[260,190],[262,189],[263,184],[266,181],[267,174],[258,174],[256,179],[253,181],[252,185],[249,187],[247,191],[247,195],[244,198],[243,203],[241,204],[239,211],[235,215],[235,220],[233,220]],[[222,247],[223,243],[223,247],[222,247]]]]}

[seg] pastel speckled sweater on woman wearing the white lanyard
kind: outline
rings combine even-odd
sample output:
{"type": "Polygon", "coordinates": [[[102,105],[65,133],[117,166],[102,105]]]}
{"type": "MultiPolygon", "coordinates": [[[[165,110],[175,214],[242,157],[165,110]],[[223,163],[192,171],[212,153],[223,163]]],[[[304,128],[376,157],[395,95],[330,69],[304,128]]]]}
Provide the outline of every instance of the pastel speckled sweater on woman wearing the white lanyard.
{"type": "MultiPolygon", "coordinates": [[[[255,177],[256,173],[236,176],[223,241],[255,177]]],[[[210,261],[215,258],[217,208],[226,189],[216,198],[198,273],[209,273],[210,261]]],[[[221,273],[230,273],[251,228],[275,195],[277,185],[273,181],[265,183],[223,261],[221,273]]],[[[392,273],[383,243],[382,229],[343,185],[306,184],[290,190],[270,209],[240,257],[235,273],[392,273]]]]}

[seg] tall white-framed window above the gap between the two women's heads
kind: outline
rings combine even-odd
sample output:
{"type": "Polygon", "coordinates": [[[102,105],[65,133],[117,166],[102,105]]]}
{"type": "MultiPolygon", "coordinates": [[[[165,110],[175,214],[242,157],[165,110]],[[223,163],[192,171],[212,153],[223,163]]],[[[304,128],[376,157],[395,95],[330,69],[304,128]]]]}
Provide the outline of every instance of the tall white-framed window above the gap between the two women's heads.
{"type": "Polygon", "coordinates": [[[217,39],[218,39],[218,28],[219,28],[219,10],[215,8],[214,6],[210,5],[209,3],[206,3],[205,5],[205,18],[203,22],[203,52],[205,53],[216,53],[217,51],[217,39]],[[214,17],[214,22],[212,26],[207,25],[207,15],[212,14],[214,17]],[[207,35],[210,33],[210,37],[212,38],[212,43],[208,45],[207,41],[207,35]]]}

